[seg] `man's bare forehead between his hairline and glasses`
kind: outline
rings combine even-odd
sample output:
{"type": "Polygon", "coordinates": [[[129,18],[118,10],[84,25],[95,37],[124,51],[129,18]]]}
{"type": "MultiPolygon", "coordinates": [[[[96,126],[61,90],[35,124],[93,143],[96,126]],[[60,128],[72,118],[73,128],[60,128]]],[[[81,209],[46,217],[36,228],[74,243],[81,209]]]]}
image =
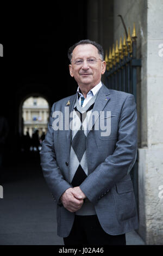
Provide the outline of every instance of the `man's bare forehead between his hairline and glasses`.
{"type": "Polygon", "coordinates": [[[77,45],[72,52],[73,59],[89,57],[99,57],[98,49],[91,44],[77,45]]]}

